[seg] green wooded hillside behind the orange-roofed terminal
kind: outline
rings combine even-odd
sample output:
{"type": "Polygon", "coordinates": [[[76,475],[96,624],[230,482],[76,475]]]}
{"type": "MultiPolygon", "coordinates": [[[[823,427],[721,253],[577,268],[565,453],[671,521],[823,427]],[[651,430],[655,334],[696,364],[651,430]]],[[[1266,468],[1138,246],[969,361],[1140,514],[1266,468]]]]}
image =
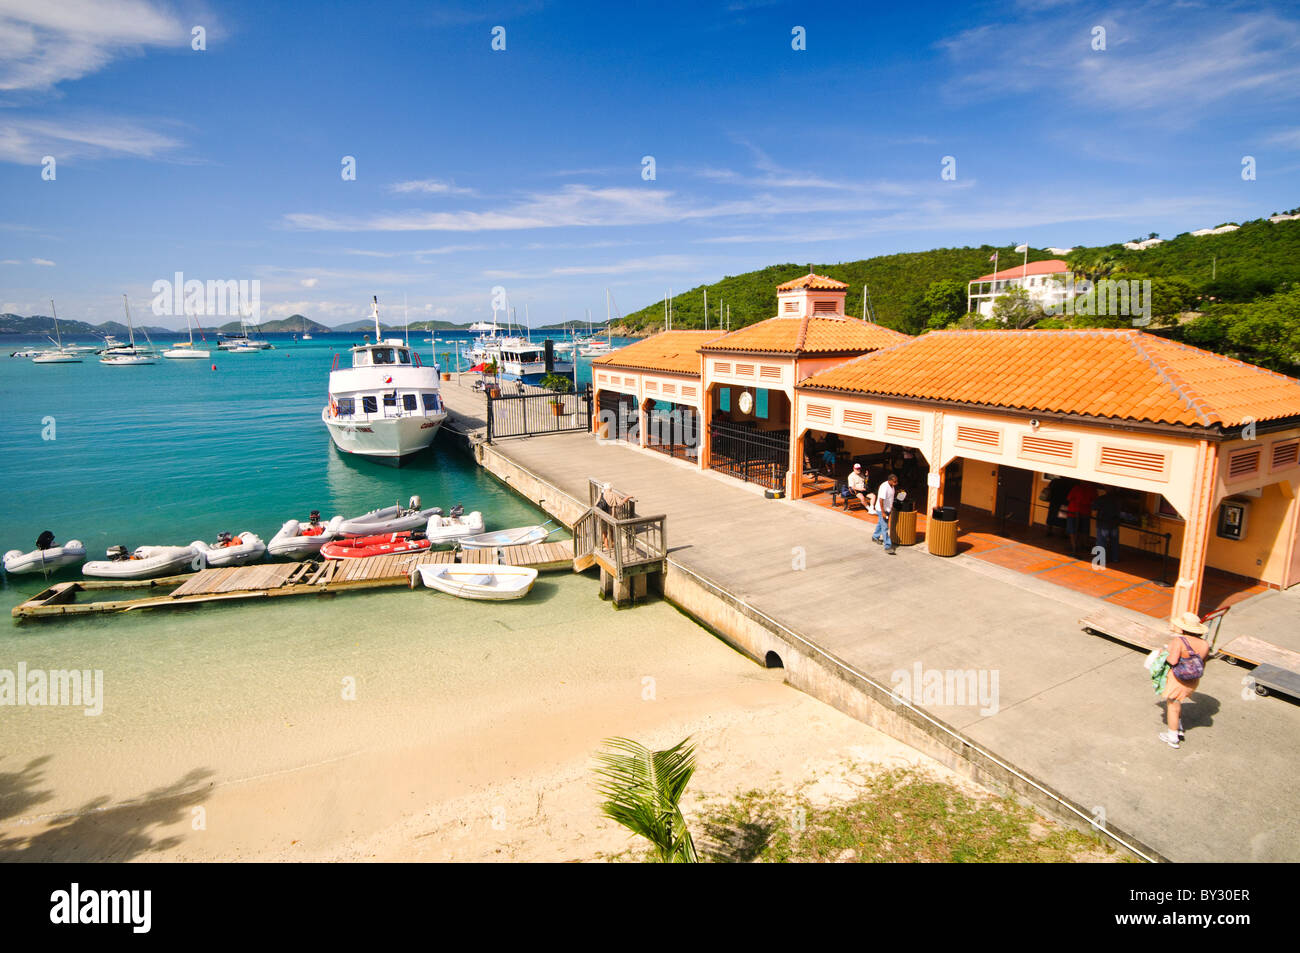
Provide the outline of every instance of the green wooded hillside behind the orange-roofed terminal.
{"type": "MultiPolygon", "coordinates": [[[[966,282],[1019,264],[1011,247],[933,248],[883,255],[862,261],[812,264],[812,270],[849,285],[845,309],[862,315],[863,285],[871,315],[889,328],[919,334],[930,328],[994,322],[963,316],[966,282]]],[[[1028,260],[1057,257],[1030,248],[1028,260]]],[[[1080,277],[1152,282],[1152,333],[1300,376],[1300,221],[1242,224],[1222,235],[1183,233],[1162,244],[1128,250],[1122,243],[1075,247],[1066,260],[1080,277]]],[[[776,313],[776,286],[806,274],[806,264],[770,265],[728,276],[673,298],[673,328],[703,328],[703,291],[708,290],[708,326],[718,326],[719,304],[731,307],[731,326],[741,328],[776,313]]],[[[663,302],[628,315],[623,326],[645,333],[663,325],[663,302]]],[[[1031,315],[1020,326],[1130,326],[1128,317],[1048,317],[1031,315]]],[[[998,325],[1001,326],[1001,325],[998,325]]]]}

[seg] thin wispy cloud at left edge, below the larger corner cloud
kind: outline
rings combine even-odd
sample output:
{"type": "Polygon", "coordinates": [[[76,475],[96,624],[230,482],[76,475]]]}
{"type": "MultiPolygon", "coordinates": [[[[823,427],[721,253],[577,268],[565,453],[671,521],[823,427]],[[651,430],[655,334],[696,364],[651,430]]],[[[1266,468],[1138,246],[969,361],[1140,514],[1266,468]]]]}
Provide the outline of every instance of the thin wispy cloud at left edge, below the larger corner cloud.
{"type": "Polygon", "coordinates": [[[36,164],[44,156],[155,159],[181,146],[170,135],[129,120],[36,120],[0,116],[0,161],[36,164]]]}

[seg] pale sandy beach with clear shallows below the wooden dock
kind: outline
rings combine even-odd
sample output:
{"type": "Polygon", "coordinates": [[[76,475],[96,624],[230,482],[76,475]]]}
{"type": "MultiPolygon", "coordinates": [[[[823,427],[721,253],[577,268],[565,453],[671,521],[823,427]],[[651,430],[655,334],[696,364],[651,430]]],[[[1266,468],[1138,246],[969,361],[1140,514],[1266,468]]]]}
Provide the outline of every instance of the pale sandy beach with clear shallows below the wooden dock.
{"type": "Polygon", "coordinates": [[[302,628],[320,611],[304,606],[131,620],[134,640],[113,647],[147,658],[108,667],[104,715],[10,711],[0,857],[597,859],[642,846],[599,813],[592,755],[612,735],[694,738],[688,816],[755,788],[835,797],[849,762],[954,777],[670,605],[616,611],[590,580],[554,581],[532,607],[426,593],[326,605],[324,632],[302,628]],[[412,605],[448,611],[395,615],[412,605]],[[213,659],[231,631],[242,638],[213,659]]]}

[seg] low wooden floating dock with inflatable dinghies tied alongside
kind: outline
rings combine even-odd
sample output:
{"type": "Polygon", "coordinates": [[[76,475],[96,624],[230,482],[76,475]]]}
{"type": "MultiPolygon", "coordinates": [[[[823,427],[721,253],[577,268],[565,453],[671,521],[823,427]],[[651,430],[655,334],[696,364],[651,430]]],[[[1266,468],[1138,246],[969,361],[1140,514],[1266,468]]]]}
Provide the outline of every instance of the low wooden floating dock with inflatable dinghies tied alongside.
{"type": "Polygon", "coordinates": [[[138,608],[168,608],[230,599],[277,598],[411,585],[421,563],[474,563],[525,566],[541,572],[573,568],[573,541],[532,546],[500,546],[486,550],[439,550],[433,553],[326,559],[324,563],[263,563],[224,569],[200,569],[185,576],[152,580],[79,580],[57,582],[14,606],[16,619],[66,619],[99,612],[130,612],[138,608]],[[79,593],[148,590],[148,595],[99,602],[77,602],[79,593]],[[162,592],[170,590],[170,592],[162,592]]]}

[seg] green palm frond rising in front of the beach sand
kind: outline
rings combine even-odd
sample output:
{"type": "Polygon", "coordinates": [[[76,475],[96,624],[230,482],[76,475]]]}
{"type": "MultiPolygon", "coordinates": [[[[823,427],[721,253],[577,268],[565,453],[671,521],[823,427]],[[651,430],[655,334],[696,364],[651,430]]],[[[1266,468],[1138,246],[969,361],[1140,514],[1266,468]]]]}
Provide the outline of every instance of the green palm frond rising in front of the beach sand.
{"type": "Polygon", "coordinates": [[[696,774],[690,738],[666,751],[651,751],[630,738],[606,738],[604,745],[607,750],[595,755],[598,789],[606,798],[601,810],[649,840],[663,863],[698,863],[679,806],[696,774]]]}

